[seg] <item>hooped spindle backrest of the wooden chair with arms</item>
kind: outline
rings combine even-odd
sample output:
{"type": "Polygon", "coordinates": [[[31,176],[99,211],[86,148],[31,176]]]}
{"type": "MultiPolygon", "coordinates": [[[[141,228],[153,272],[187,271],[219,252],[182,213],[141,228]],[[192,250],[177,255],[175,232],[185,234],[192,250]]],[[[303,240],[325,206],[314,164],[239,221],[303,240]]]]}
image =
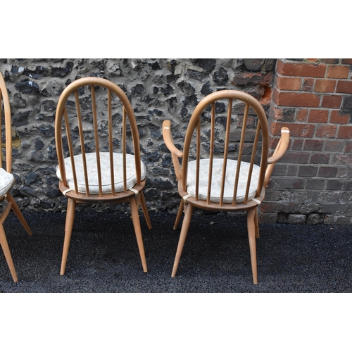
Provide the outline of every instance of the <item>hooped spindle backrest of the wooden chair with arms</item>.
{"type": "MultiPolygon", "coordinates": [[[[214,92],[212,94],[209,94],[208,96],[206,96],[205,98],[203,98],[199,104],[196,106],[196,108],[194,109],[194,113],[191,115],[191,119],[189,120],[189,125],[187,127],[187,132],[184,138],[184,148],[183,148],[183,158],[182,158],[182,190],[183,191],[187,191],[187,172],[188,172],[188,163],[189,163],[189,153],[190,153],[190,146],[191,146],[191,139],[193,137],[194,134],[194,130],[197,129],[198,133],[200,132],[200,118],[201,118],[201,113],[203,113],[204,109],[207,106],[212,106],[211,108],[211,134],[213,134],[213,122],[215,120],[215,102],[218,100],[222,100],[222,99],[229,99],[229,106],[228,106],[228,111],[227,111],[227,129],[226,129],[226,137],[225,137],[225,151],[224,151],[224,163],[226,163],[226,156],[227,156],[227,146],[228,146],[228,131],[230,129],[230,118],[231,118],[231,108],[232,108],[232,101],[237,100],[237,101],[242,101],[246,104],[245,107],[245,112],[244,112],[244,122],[243,122],[243,127],[242,128],[242,133],[244,133],[245,128],[246,128],[246,116],[248,114],[249,108],[253,108],[253,111],[255,111],[256,115],[258,116],[258,127],[257,127],[257,131],[256,131],[256,139],[254,141],[254,144],[258,143],[258,138],[259,138],[259,132],[261,132],[261,143],[262,143],[262,152],[261,152],[261,161],[260,161],[260,172],[259,172],[259,178],[258,178],[258,187],[257,187],[257,191],[256,191],[256,196],[260,195],[260,192],[262,190],[263,187],[263,182],[264,182],[264,177],[265,177],[265,170],[267,167],[267,163],[268,163],[268,153],[269,153],[269,130],[268,130],[268,120],[267,117],[265,115],[265,111],[263,109],[263,106],[260,105],[259,101],[257,99],[255,99],[253,96],[245,93],[245,92],[239,92],[236,90],[222,90],[222,91],[218,91],[218,92],[214,92]],[[260,130],[260,131],[259,131],[260,130]]],[[[197,136],[199,136],[199,134],[197,133],[197,136]]],[[[197,137],[199,138],[199,137],[197,137]]],[[[210,136],[210,139],[213,139],[213,135],[210,136]]],[[[199,144],[199,142],[197,142],[199,144]]],[[[199,169],[199,148],[197,148],[197,172],[199,169]]],[[[213,157],[213,146],[212,146],[212,140],[210,140],[210,160],[213,157]]],[[[239,150],[239,160],[238,160],[238,164],[237,164],[237,168],[239,171],[239,164],[241,161],[241,146],[240,146],[240,150],[239,150]]],[[[253,154],[252,154],[252,158],[251,158],[251,167],[253,167],[253,154]]],[[[211,163],[211,161],[210,161],[211,163]]],[[[224,165],[224,168],[226,168],[226,165],[224,165]]],[[[210,182],[211,184],[211,167],[209,168],[210,172],[209,172],[209,180],[208,182],[210,182]]],[[[224,175],[224,173],[223,173],[224,175]]],[[[249,172],[249,182],[247,183],[249,188],[249,183],[250,183],[250,177],[251,177],[251,172],[249,172]]],[[[198,180],[198,177],[196,177],[196,179],[198,180]]],[[[237,180],[237,179],[236,179],[237,180]]],[[[222,180],[223,181],[223,180],[222,180]]],[[[196,199],[198,197],[198,190],[197,190],[197,184],[196,184],[196,199]]],[[[236,191],[237,191],[237,186],[235,184],[234,187],[234,203],[235,203],[235,199],[236,199],[236,191]]],[[[246,194],[248,194],[248,190],[246,192],[246,194]]],[[[208,189],[208,202],[209,202],[209,198],[210,198],[210,189],[208,189]]],[[[222,201],[220,200],[220,205],[221,205],[222,201]]],[[[246,203],[246,201],[245,201],[246,203]]]]}

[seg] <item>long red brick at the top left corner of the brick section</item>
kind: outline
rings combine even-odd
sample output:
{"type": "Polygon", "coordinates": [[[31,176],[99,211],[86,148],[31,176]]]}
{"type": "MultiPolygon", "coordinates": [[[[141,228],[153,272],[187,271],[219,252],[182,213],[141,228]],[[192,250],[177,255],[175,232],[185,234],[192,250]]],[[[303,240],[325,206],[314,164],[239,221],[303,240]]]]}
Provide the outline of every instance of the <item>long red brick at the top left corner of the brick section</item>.
{"type": "Polygon", "coordinates": [[[283,76],[299,76],[299,77],[324,77],[326,65],[313,65],[310,63],[284,63],[277,61],[276,72],[283,76]]]}

